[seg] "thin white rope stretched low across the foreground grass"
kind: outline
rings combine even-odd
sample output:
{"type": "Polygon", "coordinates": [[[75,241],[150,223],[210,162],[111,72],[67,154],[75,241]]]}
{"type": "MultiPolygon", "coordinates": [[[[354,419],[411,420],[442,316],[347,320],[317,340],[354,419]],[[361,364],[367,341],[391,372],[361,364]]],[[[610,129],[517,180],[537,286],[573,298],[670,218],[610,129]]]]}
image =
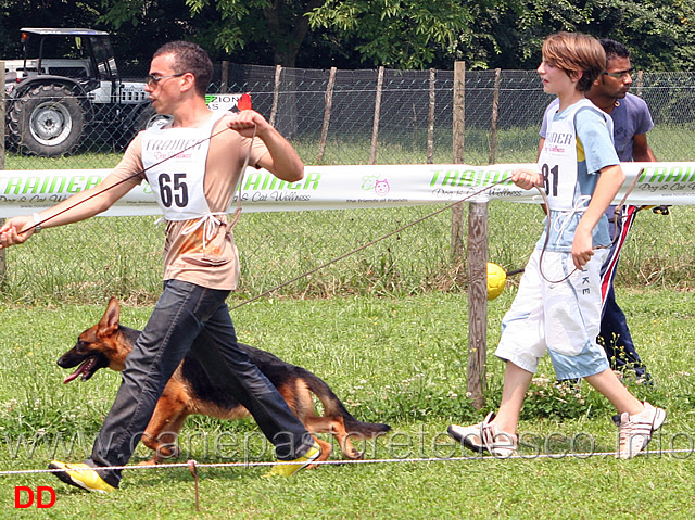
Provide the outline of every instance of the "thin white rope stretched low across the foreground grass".
{"type": "MultiPolygon", "coordinates": [[[[635,455],[644,457],[656,457],[661,455],[677,455],[687,454],[688,456],[695,453],[695,449],[658,449],[658,451],[644,451],[635,455]]],[[[584,453],[545,453],[545,454],[528,454],[528,455],[513,455],[509,457],[496,457],[494,455],[467,455],[460,457],[413,457],[413,458],[379,458],[367,460],[321,460],[313,461],[311,465],[315,466],[336,466],[336,465],[361,465],[361,464],[399,464],[399,462],[456,462],[468,460],[535,460],[535,459],[561,459],[561,458],[579,458],[585,459],[591,457],[618,457],[618,452],[584,452],[584,453]]],[[[93,471],[93,470],[132,470],[132,469],[173,469],[173,468],[190,468],[194,465],[195,468],[255,468],[263,466],[287,466],[295,465],[295,461],[275,460],[268,462],[198,462],[194,459],[187,462],[172,462],[172,464],[157,464],[157,465],[129,465],[129,466],[100,466],[98,468],[70,468],[67,471],[93,471]]],[[[65,469],[20,469],[0,471],[0,477],[9,477],[16,474],[35,474],[35,473],[60,473],[65,469]]]]}

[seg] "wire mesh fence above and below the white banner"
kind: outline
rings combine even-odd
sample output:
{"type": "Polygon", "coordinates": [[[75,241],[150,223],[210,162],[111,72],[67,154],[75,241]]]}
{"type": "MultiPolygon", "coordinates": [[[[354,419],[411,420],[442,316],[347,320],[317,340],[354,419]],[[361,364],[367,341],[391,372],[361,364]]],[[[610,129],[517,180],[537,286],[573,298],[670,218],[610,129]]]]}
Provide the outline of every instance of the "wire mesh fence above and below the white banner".
{"type": "MultiPolygon", "coordinates": [[[[130,69],[142,78],[147,69],[130,69]]],[[[640,73],[633,93],[649,105],[648,141],[660,161],[691,161],[695,149],[693,73],[640,73]]],[[[285,135],[305,164],[448,164],[456,136],[466,164],[528,163],[552,98],[534,71],[467,71],[465,110],[454,121],[453,71],[321,71],[217,64],[211,93],[250,92],[253,107],[285,135]]],[[[80,99],[80,103],[92,100],[80,99]]],[[[9,106],[9,105],[8,105],[9,106]]],[[[5,169],[115,166],[137,130],[117,103],[85,115],[78,145],[46,157],[8,136],[5,169]]],[[[142,122],[135,122],[141,124],[142,122]]],[[[5,130],[12,132],[11,125],[5,130]]],[[[1,193],[0,193],[1,195],[1,193]]],[[[428,215],[437,206],[254,213],[236,228],[242,261],[238,297],[253,296],[334,256],[428,215]]],[[[99,302],[116,295],[151,302],[161,290],[162,229],[151,217],[94,218],[51,228],[5,252],[5,300],[99,302]]],[[[534,205],[490,204],[490,259],[523,266],[541,232],[534,205]]],[[[464,230],[465,231],[465,230],[464,230]]],[[[623,250],[618,284],[694,284],[695,212],[642,212],[623,250]]],[[[465,243],[465,241],[464,241],[465,243]]],[[[464,290],[466,269],[452,251],[451,214],[442,213],[302,279],[281,293],[414,293],[464,290]]],[[[463,256],[465,258],[465,255],[463,256]]]]}

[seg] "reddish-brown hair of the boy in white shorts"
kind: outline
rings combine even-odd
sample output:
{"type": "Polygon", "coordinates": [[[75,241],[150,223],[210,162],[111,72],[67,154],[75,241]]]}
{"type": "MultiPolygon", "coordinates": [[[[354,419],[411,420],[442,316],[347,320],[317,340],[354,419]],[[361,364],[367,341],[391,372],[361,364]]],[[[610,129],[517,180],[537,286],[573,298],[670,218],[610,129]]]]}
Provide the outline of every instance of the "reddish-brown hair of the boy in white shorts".
{"type": "Polygon", "coordinates": [[[557,33],[543,42],[543,61],[571,76],[581,72],[577,89],[585,92],[606,69],[606,51],[601,42],[580,33],[557,33]]]}

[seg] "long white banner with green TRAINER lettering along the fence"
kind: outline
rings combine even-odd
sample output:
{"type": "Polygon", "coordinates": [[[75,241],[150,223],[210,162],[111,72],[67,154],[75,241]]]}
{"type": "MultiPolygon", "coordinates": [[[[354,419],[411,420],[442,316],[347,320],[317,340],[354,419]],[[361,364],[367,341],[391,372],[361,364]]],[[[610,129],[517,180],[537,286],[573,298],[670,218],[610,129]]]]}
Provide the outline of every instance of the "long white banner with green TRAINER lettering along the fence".
{"type": "MultiPolygon", "coordinates": [[[[299,182],[286,182],[264,169],[248,168],[241,190],[244,212],[285,212],[390,207],[456,201],[507,200],[541,203],[538,190],[509,181],[514,169],[534,164],[405,164],[306,166],[299,182]]],[[[636,177],[628,198],[634,205],[695,204],[695,163],[622,163],[627,180],[618,203],[636,177]]],[[[110,169],[0,170],[0,218],[50,207],[97,186],[110,169]]],[[[236,195],[235,202],[236,204],[236,195]]],[[[160,215],[147,183],[131,190],[106,216],[160,215]]]]}

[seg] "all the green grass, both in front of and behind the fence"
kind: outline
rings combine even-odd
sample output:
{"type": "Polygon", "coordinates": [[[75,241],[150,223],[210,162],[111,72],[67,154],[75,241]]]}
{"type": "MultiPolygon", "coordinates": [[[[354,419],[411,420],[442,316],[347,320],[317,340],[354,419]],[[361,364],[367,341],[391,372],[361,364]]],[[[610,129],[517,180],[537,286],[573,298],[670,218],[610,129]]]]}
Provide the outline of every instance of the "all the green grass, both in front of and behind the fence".
{"type": "MultiPolygon", "coordinates": [[[[669,128],[649,134],[659,158],[686,158],[690,149],[669,151],[677,135],[683,138],[669,128]]],[[[467,138],[467,147],[479,147],[467,149],[466,162],[486,163],[485,139],[485,132],[467,138]]],[[[504,151],[497,162],[532,161],[536,139],[533,129],[501,132],[504,151]]],[[[315,143],[298,148],[312,164],[315,143]]],[[[324,164],[355,164],[367,155],[368,143],[337,142],[324,164]]],[[[8,169],[101,168],[115,165],[119,155],[7,158],[8,169]]],[[[424,151],[410,144],[379,153],[381,163],[424,160],[424,151]]],[[[435,162],[450,161],[450,150],[440,148],[435,162]]],[[[243,281],[229,303],[242,303],[430,210],[244,215],[237,228],[243,281]]],[[[691,519],[694,212],[674,207],[669,216],[640,215],[618,275],[618,301],[656,381],[628,384],[669,413],[648,456],[628,461],[573,456],[615,449],[614,410],[585,383],[580,394],[549,383],[546,359],[522,410],[523,458],[460,459],[466,454],[445,436],[446,427],[477,422],[497,405],[503,366],[492,353],[516,279],[489,305],[486,404],[477,410],[466,396],[465,266],[451,263],[446,214],[232,313],[241,341],[314,371],[358,419],[389,422],[393,431],[365,446],[367,459],[389,461],[330,465],[267,480],[266,468],[254,464],[273,456],[253,421],[190,418],[178,462],[249,462],[199,470],[201,512],[187,468],[128,470],[121,490],[109,496],[28,472],[45,469],[54,457],[84,459],[118,386],[118,375],[108,370],[86,383],[63,385],[67,371],[58,367],[58,357],[101,317],[111,295],[127,300],[124,325],[141,328],[161,287],[161,229],[153,228],[153,219],[92,219],[47,230],[8,251],[0,296],[0,513],[3,519],[691,519]],[[408,460],[414,458],[427,461],[408,460]],[[9,474],[13,471],[24,472],[9,474]],[[20,485],[53,486],[55,505],[15,509],[20,485]]],[[[490,259],[508,269],[522,267],[540,230],[538,208],[491,204],[490,259]]],[[[144,457],[140,447],[131,462],[144,457]]]]}

